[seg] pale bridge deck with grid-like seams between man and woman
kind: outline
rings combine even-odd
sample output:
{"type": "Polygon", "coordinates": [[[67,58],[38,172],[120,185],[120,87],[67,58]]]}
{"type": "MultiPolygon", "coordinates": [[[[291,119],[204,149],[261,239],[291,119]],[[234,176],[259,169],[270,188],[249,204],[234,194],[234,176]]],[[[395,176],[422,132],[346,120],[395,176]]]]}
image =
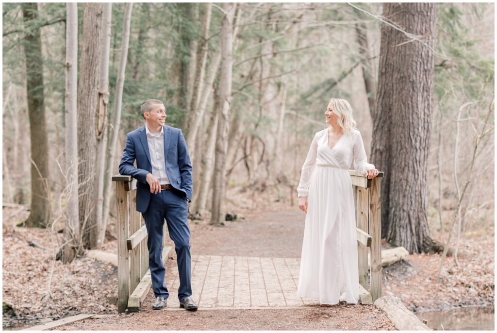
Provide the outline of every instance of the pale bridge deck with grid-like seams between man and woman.
{"type": "MultiPolygon", "coordinates": [[[[295,308],[317,304],[297,297],[299,259],[227,255],[192,257],[192,298],[202,310],[295,308]]],[[[166,272],[166,310],[177,310],[178,271],[166,272]]]]}

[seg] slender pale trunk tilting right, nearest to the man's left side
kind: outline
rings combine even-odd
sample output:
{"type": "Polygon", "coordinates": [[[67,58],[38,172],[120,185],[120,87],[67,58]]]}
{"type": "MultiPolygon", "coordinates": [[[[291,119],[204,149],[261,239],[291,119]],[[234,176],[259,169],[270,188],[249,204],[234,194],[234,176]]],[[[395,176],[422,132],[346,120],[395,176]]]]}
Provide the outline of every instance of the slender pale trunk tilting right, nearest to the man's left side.
{"type": "Polygon", "coordinates": [[[116,93],[114,99],[114,118],[112,120],[112,128],[109,131],[111,135],[110,144],[107,152],[107,162],[104,173],[105,177],[105,187],[103,196],[103,217],[102,217],[102,229],[98,235],[100,244],[103,244],[105,237],[105,229],[107,228],[107,219],[109,217],[109,202],[110,202],[110,188],[112,186],[112,169],[114,166],[114,153],[116,151],[117,137],[119,135],[119,127],[121,125],[121,110],[122,110],[122,99],[123,99],[123,89],[124,89],[124,75],[126,70],[126,60],[128,58],[128,48],[129,48],[129,35],[131,27],[131,13],[133,9],[133,3],[126,3],[126,9],[124,11],[124,22],[123,22],[123,40],[121,43],[121,57],[119,61],[119,72],[117,73],[116,82],[116,93]]]}

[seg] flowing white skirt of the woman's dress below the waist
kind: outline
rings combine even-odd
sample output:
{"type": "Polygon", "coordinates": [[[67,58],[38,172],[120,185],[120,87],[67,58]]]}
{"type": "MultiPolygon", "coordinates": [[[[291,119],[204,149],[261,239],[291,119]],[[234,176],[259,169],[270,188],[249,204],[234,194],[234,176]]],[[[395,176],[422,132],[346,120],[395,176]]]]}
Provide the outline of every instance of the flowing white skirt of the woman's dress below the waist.
{"type": "Polygon", "coordinates": [[[354,196],[347,169],[318,165],[311,176],[297,296],[359,301],[354,196]]]}

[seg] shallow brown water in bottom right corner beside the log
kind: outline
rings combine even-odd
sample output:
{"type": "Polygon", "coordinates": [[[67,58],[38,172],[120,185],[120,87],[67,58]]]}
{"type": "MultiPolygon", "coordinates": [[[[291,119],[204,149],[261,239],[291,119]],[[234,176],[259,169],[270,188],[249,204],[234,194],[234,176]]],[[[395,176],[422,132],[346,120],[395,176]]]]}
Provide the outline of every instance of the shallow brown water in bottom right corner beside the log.
{"type": "Polygon", "coordinates": [[[494,331],[495,307],[470,307],[454,310],[422,312],[416,314],[419,320],[427,320],[426,325],[441,331],[494,331]]]}

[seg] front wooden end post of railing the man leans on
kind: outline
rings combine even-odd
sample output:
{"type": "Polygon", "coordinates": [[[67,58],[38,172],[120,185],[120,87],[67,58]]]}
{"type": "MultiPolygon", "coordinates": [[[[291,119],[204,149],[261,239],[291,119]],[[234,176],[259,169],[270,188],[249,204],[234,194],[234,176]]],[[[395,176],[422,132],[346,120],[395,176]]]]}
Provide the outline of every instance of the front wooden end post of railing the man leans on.
{"type": "Polygon", "coordinates": [[[125,189],[125,182],[116,181],[116,202],[117,202],[117,311],[125,312],[128,307],[129,298],[129,251],[126,247],[126,240],[129,236],[129,200],[128,191],[125,189]]]}

